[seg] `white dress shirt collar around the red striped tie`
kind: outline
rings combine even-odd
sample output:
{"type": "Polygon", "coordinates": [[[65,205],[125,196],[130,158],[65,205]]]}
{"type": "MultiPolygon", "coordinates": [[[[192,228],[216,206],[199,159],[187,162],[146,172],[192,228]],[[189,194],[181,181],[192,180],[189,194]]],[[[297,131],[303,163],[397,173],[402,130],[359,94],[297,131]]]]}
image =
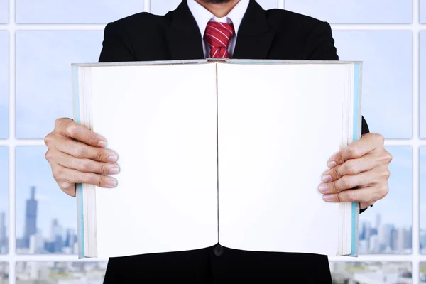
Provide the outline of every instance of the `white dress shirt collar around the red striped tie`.
{"type": "Polygon", "coordinates": [[[209,21],[217,21],[221,23],[234,23],[235,35],[229,40],[228,52],[229,55],[234,54],[236,36],[238,35],[238,29],[243,20],[243,16],[247,11],[250,0],[240,0],[234,8],[223,18],[217,18],[210,12],[205,9],[201,4],[195,0],[187,0],[188,7],[194,16],[195,21],[197,21],[198,28],[200,28],[200,33],[202,37],[202,46],[204,50],[204,58],[210,57],[210,47],[204,40],[204,31],[206,30],[207,23],[209,21]]]}

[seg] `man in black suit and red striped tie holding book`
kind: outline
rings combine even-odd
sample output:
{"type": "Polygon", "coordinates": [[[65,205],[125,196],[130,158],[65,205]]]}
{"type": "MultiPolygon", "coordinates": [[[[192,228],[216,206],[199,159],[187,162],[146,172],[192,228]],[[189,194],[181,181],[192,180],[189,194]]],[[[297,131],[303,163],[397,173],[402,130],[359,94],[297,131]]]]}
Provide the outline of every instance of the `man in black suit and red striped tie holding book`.
{"type": "MultiPolygon", "coordinates": [[[[165,16],[138,13],[109,23],[99,62],[207,57],[338,60],[326,22],[284,10],[264,11],[254,0],[184,0],[165,16]]],[[[291,121],[283,122],[283,127],[285,123],[291,121]]],[[[324,161],[330,169],[324,173],[318,190],[326,202],[360,202],[364,211],[387,194],[392,157],[383,148],[383,136],[368,133],[364,119],[362,133],[360,141],[324,161]]],[[[104,149],[106,138],[71,119],[58,119],[45,143],[55,180],[68,195],[75,196],[77,182],[116,185],[114,178],[105,176],[119,171],[116,153],[104,149]]],[[[110,258],[104,283],[165,280],[332,283],[327,256],[239,251],[219,245],[110,258]]]]}

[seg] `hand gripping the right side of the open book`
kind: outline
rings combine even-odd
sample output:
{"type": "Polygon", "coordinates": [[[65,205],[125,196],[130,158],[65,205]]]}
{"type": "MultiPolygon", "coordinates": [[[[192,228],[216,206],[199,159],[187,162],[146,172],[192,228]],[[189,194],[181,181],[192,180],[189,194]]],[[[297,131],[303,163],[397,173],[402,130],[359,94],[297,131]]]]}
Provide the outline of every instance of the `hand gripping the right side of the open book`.
{"type": "Polygon", "coordinates": [[[364,209],[388,194],[392,155],[380,134],[366,133],[327,162],[318,189],[327,202],[360,202],[364,209]],[[354,188],[358,187],[358,188],[354,188]]]}

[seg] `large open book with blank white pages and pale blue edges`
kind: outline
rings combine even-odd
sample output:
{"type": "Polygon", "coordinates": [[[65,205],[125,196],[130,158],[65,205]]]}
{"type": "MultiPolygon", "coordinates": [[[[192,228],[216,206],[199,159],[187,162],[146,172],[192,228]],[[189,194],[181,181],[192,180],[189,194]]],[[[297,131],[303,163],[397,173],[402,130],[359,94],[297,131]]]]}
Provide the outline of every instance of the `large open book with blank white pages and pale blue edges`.
{"type": "Polygon", "coordinates": [[[361,62],[73,64],[75,120],[119,154],[77,185],[80,258],[187,251],[357,255],[359,204],[327,203],[327,160],[361,137],[361,62]]]}

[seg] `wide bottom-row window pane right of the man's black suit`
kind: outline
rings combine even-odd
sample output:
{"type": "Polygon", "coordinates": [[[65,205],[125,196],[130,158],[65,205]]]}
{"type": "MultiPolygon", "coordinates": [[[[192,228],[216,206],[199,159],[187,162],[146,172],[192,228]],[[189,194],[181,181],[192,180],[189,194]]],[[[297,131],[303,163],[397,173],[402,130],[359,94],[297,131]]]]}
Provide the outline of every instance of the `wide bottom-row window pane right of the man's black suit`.
{"type": "Polygon", "coordinates": [[[410,262],[332,262],[334,284],[413,283],[410,262]]]}

